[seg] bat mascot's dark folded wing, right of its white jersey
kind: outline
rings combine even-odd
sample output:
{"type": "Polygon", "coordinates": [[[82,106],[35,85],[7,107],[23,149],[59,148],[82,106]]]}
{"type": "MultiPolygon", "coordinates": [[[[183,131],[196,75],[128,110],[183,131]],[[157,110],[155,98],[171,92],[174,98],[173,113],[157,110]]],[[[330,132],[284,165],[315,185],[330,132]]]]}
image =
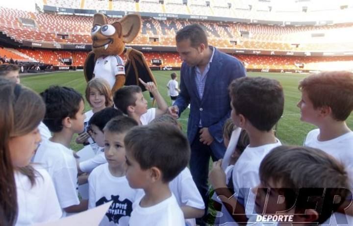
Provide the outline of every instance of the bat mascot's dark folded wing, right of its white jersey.
{"type": "Polygon", "coordinates": [[[142,92],[146,91],[146,88],[139,82],[139,78],[141,78],[146,83],[152,81],[157,85],[157,82],[155,81],[151,69],[148,66],[145,56],[142,54],[142,52],[127,48],[125,55],[127,58],[125,64],[125,85],[139,85],[142,89],[142,92]]]}

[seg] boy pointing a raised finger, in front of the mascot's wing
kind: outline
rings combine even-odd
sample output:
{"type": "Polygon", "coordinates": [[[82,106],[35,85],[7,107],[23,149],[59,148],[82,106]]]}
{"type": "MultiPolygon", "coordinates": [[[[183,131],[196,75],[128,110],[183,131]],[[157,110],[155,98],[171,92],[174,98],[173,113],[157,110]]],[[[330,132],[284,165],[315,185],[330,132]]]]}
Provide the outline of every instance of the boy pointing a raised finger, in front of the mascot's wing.
{"type": "Polygon", "coordinates": [[[117,90],[114,94],[114,104],[124,114],[136,120],[139,125],[148,125],[154,118],[166,113],[168,105],[153,82],[144,83],[146,89],[153,94],[158,108],[147,109],[147,100],[139,86],[130,85],[117,90]]]}

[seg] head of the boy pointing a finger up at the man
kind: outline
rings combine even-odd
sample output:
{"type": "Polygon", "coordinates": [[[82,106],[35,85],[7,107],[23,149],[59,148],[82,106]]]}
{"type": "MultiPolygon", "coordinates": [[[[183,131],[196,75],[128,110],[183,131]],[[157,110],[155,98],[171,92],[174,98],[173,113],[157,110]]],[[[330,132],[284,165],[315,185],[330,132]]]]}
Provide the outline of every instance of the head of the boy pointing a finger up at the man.
{"type": "Polygon", "coordinates": [[[141,116],[147,112],[147,100],[145,100],[141,88],[137,85],[124,86],[118,89],[114,94],[114,104],[126,115],[135,113],[141,116]]]}

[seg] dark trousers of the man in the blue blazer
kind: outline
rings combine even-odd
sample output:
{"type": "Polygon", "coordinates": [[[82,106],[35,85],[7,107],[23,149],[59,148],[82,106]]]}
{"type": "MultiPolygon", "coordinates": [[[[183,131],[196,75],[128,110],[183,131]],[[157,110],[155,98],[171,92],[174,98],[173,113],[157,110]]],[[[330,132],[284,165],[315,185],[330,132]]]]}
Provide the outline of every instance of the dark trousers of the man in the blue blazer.
{"type": "MultiPolygon", "coordinates": [[[[195,137],[194,141],[191,144],[191,158],[190,158],[190,172],[193,176],[193,179],[196,183],[197,188],[202,196],[203,202],[205,203],[205,214],[207,213],[208,208],[208,168],[209,168],[209,160],[212,157],[213,161],[217,161],[217,158],[210,146],[202,144],[200,142],[200,136],[198,131],[198,135],[195,137]]],[[[215,141],[214,141],[215,142],[215,141]]],[[[197,219],[197,224],[200,226],[205,225],[201,219],[197,219]]]]}

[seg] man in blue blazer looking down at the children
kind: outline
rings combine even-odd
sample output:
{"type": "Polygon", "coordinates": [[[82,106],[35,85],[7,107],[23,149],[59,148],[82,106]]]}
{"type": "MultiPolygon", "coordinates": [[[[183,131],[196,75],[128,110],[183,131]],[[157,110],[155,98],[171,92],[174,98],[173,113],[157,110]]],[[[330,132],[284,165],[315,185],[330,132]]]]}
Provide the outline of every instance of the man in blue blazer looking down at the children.
{"type": "Polygon", "coordinates": [[[246,72],[238,59],[208,46],[206,33],[197,24],[176,33],[176,50],[183,60],[180,93],[168,110],[178,117],[190,103],[190,171],[207,210],[209,158],[217,161],[226,151],[222,129],[231,111],[228,85],[246,72]]]}

